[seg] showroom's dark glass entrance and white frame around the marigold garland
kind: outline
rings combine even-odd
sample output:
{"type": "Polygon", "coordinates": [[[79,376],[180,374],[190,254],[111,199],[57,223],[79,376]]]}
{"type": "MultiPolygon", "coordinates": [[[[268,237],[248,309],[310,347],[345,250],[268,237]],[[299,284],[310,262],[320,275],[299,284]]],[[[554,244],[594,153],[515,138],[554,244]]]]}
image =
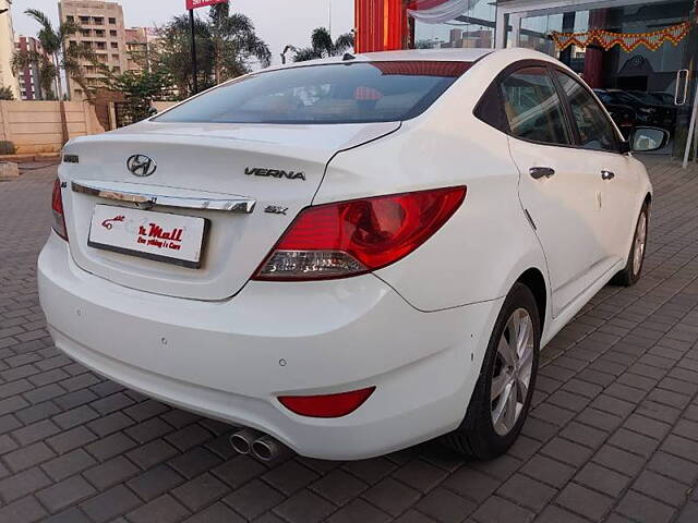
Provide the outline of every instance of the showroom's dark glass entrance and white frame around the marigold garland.
{"type": "MultiPolygon", "coordinates": [[[[614,2],[603,3],[614,5],[614,2]]],[[[509,15],[505,45],[535,49],[562,60],[598,89],[598,95],[613,114],[622,111],[624,119],[630,118],[636,126],[667,130],[671,139],[663,153],[681,158],[686,150],[696,97],[696,2],[624,3],[589,10],[509,15]],[[551,38],[553,32],[586,33],[591,29],[638,35],[687,21],[690,23],[688,34],[681,41],[665,41],[655,50],[642,45],[633,50],[624,50],[617,45],[605,50],[599,45],[586,48],[573,45],[561,51],[551,38]]]]}

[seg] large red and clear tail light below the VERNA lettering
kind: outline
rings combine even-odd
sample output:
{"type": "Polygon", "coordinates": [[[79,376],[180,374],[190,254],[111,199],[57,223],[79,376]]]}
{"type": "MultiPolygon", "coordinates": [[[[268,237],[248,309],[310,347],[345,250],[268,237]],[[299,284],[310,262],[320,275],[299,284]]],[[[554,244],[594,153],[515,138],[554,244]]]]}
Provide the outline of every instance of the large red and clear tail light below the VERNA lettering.
{"type": "Polygon", "coordinates": [[[429,240],[465,197],[459,186],[308,207],[253,279],[346,278],[386,267],[429,240]]]}

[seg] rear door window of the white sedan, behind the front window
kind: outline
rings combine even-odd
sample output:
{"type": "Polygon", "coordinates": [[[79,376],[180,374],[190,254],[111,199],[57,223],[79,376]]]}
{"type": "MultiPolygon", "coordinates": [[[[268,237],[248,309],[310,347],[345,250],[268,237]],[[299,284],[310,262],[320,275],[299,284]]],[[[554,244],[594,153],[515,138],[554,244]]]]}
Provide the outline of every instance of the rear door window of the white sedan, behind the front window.
{"type": "Polygon", "coordinates": [[[500,86],[513,136],[551,145],[568,145],[563,107],[545,68],[519,69],[500,86]]]}

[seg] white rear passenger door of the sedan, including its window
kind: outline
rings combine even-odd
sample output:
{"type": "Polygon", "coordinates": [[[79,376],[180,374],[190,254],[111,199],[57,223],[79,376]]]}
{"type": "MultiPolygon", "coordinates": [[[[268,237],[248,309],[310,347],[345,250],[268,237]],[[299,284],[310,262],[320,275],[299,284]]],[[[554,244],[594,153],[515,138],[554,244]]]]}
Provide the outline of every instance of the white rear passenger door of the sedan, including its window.
{"type": "Polygon", "coordinates": [[[500,83],[519,198],[547,260],[552,313],[593,283],[603,265],[599,183],[574,145],[556,84],[545,64],[522,65],[500,83]]]}

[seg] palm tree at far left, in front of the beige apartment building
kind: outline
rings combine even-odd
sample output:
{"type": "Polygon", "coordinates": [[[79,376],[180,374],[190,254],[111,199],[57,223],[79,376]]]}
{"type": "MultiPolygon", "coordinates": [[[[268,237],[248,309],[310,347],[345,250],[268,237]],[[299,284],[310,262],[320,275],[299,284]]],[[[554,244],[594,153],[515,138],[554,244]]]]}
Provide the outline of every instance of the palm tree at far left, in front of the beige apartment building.
{"type": "Polygon", "coordinates": [[[80,25],[74,22],[62,22],[58,28],[53,28],[51,21],[46,14],[36,9],[27,9],[24,12],[40,25],[37,39],[41,44],[46,54],[37,51],[21,50],[12,58],[12,69],[24,70],[29,65],[37,68],[39,72],[40,85],[44,93],[52,93],[52,85],[58,85],[58,96],[62,88],[60,70],[65,71],[65,75],[80,85],[89,98],[91,92],[85,82],[81,61],[96,61],[94,52],[83,45],[69,45],[71,35],[80,31],[80,25]],[[49,58],[50,57],[50,58],[49,58]]]}

